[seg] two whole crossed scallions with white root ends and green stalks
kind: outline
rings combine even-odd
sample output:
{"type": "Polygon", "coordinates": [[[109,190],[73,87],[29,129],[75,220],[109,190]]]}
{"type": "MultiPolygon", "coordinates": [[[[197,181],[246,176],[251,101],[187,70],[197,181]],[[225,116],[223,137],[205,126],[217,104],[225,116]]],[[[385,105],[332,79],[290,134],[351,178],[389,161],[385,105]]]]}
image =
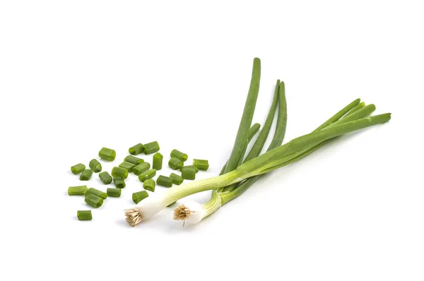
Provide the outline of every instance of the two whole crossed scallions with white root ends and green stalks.
{"type": "Polygon", "coordinates": [[[232,152],[218,177],[192,181],[168,189],[161,194],[153,194],[141,201],[136,207],[125,210],[126,222],[134,227],[142,220],[153,217],[160,210],[186,196],[203,191],[212,191],[211,199],[200,204],[189,201],[179,205],[174,210],[174,220],[183,220],[184,223],[195,224],[204,217],[216,212],[222,205],[240,196],[263,174],[296,162],[310,155],[322,145],[345,133],[351,133],[363,128],[383,124],[390,119],[390,113],[370,116],[375,111],[374,104],[365,106],[364,102],[354,100],[331,116],[321,126],[311,133],[300,136],[288,143],[283,143],[285,125],[287,121],[287,107],[285,102],[285,85],[279,80],[269,114],[254,145],[247,153],[249,141],[259,131],[259,124],[252,126],[254,109],[259,93],[261,76],[261,61],[257,58],[253,62],[252,80],[237,131],[232,152]],[[278,114],[275,112],[278,109],[278,114]],[[277,115],[276,131],[266,153],[260,154],[268,138],[274,115],[277,115]],[[247,153],[247,155],[246,155],[247,153]]]}

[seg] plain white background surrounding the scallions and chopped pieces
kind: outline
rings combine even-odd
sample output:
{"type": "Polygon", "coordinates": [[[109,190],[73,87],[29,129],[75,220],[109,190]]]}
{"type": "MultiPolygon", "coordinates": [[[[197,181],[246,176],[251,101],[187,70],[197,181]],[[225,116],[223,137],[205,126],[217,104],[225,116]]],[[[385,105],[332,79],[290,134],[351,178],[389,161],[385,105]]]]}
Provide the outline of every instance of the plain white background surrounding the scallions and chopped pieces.
{"type": "MultiPolygon", "coordinates": [[[[0,2],[1,280],[424,280],[421,1],[208,2],[0,2]],[[158,140],[164,163],[177,148],[209,160],[199,179],[218,174],[255,56],[254,121],[284,80],[286,141],[357,97],[392,119],[269,174],[199,225],[167,208],[128,227],[134,176],[76,220],[88,207],[66,195],[82,184],[69,167],[102,146],[117,150],[109,171],[158,140]]],[[[97,174],[87,184],[106,188],[97,174]]]]}

